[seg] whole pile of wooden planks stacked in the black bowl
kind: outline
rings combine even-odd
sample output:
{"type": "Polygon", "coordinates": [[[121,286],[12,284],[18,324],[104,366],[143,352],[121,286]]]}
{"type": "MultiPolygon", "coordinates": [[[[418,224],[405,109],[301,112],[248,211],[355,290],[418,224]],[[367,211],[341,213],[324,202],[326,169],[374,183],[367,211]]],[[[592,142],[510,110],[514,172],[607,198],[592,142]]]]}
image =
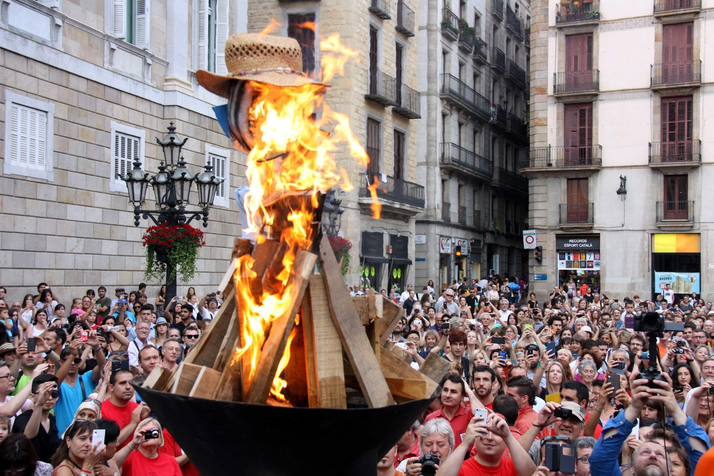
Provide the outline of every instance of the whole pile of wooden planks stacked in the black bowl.
{"type": "Polygon", "coordinates": [[[225,298],[216,318],[178,369],[171,373],[156,368],[144,386],[190,397],[263,404],[272,400],[278,363],[289,350],[282,378],[293,406],[346,408],[346,386],[359,390],[370,407],[435,396],[448,362],[429,355],[420,370],[412,368],[411,357],[389,342],[403,308],[373,291],[351,296],[327,237],[315,248],[317,254],[296,253],[288,278],[292,305],[271,323],[252,378],[247,355],[235,358],[245,324],[241,310],[248,307],[243,301],[250,296],[280,288],[275,275],[285,247],[276,240],[254,246],[236,240],[233,260],[220,285],[225,298]],[[236,290],[234,274],[238,258],[248,253],[255,260],[256,275],[250,280],[251,292],[245,293],[236,290]],[[313,273],[318,261],[321,274],[313,273]]]}

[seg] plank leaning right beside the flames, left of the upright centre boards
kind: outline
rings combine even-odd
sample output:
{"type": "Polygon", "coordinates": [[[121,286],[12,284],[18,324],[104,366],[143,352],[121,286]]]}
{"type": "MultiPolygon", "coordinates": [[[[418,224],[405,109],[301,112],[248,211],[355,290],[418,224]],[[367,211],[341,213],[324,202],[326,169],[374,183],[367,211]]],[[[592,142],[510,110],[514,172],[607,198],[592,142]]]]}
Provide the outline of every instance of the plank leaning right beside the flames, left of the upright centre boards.
{"type": "Polygon", "coordinates": [[[308,251],[298,250],[295,255],[291,276],[288,278],[288,285],[292,285],[289,301],[293,305],[271,323],[270,333],[263,343],[261,358],[258,360],[248,388],[245,400],[248,403],[265,403],[268,399],[278,363],[285,351],[288,336],[293,330],[295,315],[303,301],[303,295],[305,295],[305,290],[310,282],[316,260],[317,255],[308,251]]]}

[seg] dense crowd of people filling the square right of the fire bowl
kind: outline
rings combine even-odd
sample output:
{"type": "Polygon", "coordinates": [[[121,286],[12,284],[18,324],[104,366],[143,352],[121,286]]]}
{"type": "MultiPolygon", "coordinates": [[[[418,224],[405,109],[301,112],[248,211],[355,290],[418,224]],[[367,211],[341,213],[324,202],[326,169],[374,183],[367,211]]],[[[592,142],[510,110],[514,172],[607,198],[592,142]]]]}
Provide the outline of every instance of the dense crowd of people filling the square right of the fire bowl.
{"type": "Polygon", "coordinates": [[[535,295],[498,275],[382,293],[404,308],[390,340],[413,367],[451,366],[378,475],[714,474],[712,303],[578,283],[535,295]]]}

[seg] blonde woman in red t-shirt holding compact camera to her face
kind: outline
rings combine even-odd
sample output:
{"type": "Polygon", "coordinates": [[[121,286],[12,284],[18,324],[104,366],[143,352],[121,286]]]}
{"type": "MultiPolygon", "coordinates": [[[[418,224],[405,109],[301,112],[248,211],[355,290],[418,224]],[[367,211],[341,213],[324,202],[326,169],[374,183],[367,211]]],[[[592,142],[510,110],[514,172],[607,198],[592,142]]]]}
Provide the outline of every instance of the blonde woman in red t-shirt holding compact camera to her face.
{"type": "Polygon", "coordinates": [[[176,459],[159,452],[164,446],[164,430],[154,418],[136,425],[134,438],[114,456],[122,476],[181,476],[176,459]]]}

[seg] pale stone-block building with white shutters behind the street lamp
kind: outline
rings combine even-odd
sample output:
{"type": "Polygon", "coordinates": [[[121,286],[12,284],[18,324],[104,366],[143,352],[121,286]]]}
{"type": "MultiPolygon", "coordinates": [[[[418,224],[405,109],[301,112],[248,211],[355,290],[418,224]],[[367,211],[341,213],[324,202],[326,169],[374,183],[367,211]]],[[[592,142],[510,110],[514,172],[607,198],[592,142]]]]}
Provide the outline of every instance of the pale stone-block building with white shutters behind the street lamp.
{"type": "MultiPolygon", "coordinates": [[[[240,235],[231,191],[244,159],[213,115],[225,101],[198,88],[193,71],[225,69],[222,44],[245,31],[246,5],[228,0],[13,0],[0,5],[0,285],[19,300],[40,282],[64,303],[87,288],[136,288],[141,236],[126,186],[134,158],[148,173],[163,158],[154,137],[173,121],[188,137],[192,173],[219,161],[216,197],[201,248],[201,294],[225,273],[240,235]],[[121,6],[130,5],[129,10],[121,6]]],[[[153,192],[145,208],[154,208],[153,192]]],[[[200,226],[199,223],[192,223],[200,226]]],[[[151,283],[150,293],[156,288],[151,283]]],[[[178,293],[186,286],[179,281],[178,293]]]]}

